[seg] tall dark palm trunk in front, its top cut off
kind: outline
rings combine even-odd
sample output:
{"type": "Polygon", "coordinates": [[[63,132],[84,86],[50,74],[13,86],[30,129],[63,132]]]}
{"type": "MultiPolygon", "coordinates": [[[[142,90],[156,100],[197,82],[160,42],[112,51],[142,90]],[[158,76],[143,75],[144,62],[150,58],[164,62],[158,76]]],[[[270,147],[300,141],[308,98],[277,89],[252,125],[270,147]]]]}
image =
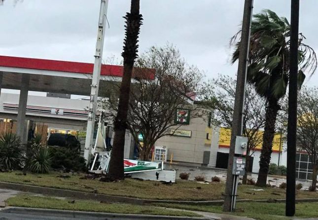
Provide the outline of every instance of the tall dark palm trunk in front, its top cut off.
{"type": "Polygon", "coordinates": [[[138,52],[138,35],[141,26],[142,16],[139,14],[140,0],[131,0],[130,13],[126,19],[126,32],[124,39],[124,50],[121,54],[124,58],[123,78],[120,85],[118,111],[114,121],[114,143],[109,161],[108,179],[121,180],[124,178],[124,145],[127,112],[130,96],[130,83],[135,59],[138,52]]]}

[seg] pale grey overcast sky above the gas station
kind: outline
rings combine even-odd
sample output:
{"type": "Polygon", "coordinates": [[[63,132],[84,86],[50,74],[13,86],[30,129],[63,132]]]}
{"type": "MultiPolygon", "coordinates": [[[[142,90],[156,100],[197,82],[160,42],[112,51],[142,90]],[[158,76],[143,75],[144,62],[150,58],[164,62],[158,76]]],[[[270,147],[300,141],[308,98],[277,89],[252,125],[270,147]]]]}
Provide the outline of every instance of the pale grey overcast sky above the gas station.
{"type": "MultiPolygon", "coordinates": [[[[100,0],[5,0],[0,6],[0,55],[94,62],[100,0]]],[[[318,49],[318,1],[302,0],[299,31],[318,49]]],[[[244,0],[141,0],[140,53],[152,45],[174,44],[209,78],[234,76],[229,39],[241,27],[244,0]]],[[[109,0],[104,59],[120,58],[123,15],[130,0],[109,0]]],[[[271,9],[290,20],[290,0],[254,0],[253,13],[271,9]]],[[[316,50],[316,53],[318,51],[316,50]]],[[[318,82],[318,73],[308,85],[318,82]]]]}

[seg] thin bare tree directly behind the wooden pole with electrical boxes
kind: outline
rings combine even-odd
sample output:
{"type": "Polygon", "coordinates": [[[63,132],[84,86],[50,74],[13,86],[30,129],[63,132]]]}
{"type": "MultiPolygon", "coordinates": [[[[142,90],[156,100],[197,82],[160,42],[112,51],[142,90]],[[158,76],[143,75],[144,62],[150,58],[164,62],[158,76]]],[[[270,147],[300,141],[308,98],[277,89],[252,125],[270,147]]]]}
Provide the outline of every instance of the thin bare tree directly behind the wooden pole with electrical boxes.
{"type": "MultiPolygon", "coordinates": [[[[229,76],[219,75],[218,78],[214,79],[213,84],[216,99],[214,102],[214,123],[218,126],[232,127],[236,80],[229,76]]],[[[243,135],[248,137],[246,175],[243,177],[243,184],[246,184],[250,157],[254,154],[256,146],[262,143],[261,130],[264,129],[265,125],[266,102],[256,94],[252,86],[247,84],[244,104],[243,135]]]]}

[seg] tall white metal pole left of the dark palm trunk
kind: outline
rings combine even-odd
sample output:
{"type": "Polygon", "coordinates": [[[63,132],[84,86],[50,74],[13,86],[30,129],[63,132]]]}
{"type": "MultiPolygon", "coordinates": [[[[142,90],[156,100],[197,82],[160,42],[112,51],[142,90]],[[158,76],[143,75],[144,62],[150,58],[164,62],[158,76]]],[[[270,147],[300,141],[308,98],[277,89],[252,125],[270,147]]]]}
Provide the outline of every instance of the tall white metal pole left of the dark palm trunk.
{"type": "Polygon", "coordinates": [[[91,149],[92,149],[92,142],[93,142],[95,115],[96,115],[96,109],[97,109],[98,88],[99,88],[100,78],[101,78],[107,7],[108,7],[108,0],[101,0],[100,16],[98,19],[96,52],[94,56],[95,63],[94,63],[94,69],[93,69],[93,78],[92,78],[92,85],[91,85],[91,95],[90,95],[90,101],[89,101],[85,149],[84,149],[84,158],[86,159],[86,163],[89,163],[91,149]]]}

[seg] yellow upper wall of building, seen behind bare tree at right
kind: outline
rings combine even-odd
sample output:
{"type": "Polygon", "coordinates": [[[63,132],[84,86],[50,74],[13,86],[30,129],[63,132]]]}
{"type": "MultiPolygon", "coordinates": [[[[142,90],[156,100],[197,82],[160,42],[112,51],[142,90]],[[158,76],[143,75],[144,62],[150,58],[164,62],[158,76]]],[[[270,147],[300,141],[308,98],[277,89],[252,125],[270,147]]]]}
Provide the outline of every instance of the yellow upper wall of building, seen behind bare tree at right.
{"type": "MultiPolygon", "coordinates": [[[[259,131],[258,135],[263,136],[264,131],[259,131]]],[[[280,150],[280,141],[281,141],[281,134],[275,134],[274,140],[273,140],[273,151],[279,151],[280,150]]],[[[220,128],[220,135],[219,135],[219,142],[218,144],[225,147],[230,146],[231,142],[231,129],[229,128],[220,128]]],[[[256,149],[262,149],[262,143],[256,146],[256,149]]],[[[281,149],[282,150],[282,149],[281,149]]]]}

